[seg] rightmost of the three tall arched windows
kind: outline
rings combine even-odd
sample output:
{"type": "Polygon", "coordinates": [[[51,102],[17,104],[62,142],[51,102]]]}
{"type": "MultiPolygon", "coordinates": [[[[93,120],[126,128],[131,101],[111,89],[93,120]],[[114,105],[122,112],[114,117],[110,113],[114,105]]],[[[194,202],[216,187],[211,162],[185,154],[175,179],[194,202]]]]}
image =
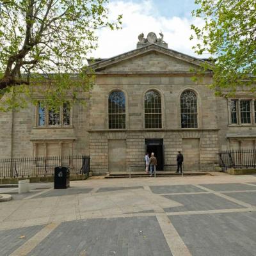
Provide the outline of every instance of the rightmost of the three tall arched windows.
{"type": "Polygon", "coordinates": [[[180,96],[181,128],[197,128],[197,102],[192,91],[180,96]]]}

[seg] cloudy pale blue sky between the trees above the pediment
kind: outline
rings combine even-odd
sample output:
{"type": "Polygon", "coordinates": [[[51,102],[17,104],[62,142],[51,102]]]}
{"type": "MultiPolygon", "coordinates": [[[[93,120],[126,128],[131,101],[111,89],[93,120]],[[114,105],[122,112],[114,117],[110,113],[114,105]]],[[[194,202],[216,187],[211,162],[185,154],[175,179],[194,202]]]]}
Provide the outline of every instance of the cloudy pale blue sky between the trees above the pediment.
{"type": "MultiPolygon", "coordinates": [[[[136,49],[138,35],[152,31],[159,37],[162,31],[168,48],[198,57],[192,46],[196,40],[189,40],[190,25],[202,27],[202,19],[192,17],[191,11],[196,8],[194,0],[109,0],[109,18],[123,15],[122,29],[111,31],[100,29],[98,49],[93,51],[94,58],[110,58],[136,49]]],[[[200,56],[207,58],[208,56],[200,56]]]]}

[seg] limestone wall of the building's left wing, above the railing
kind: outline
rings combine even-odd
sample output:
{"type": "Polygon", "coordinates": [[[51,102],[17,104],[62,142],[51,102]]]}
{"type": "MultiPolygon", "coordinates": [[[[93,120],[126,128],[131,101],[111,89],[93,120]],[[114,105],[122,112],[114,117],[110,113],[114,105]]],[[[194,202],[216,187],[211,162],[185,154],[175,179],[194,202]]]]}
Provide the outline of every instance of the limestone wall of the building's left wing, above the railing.
{"type": "Polygon", "coordinates": [[[74,105],[68,127],[38,127],[33,105],[13,113],[13,121],[11,112],[0,113],[0,158],[89,155],[89,108],[74,105]]]}

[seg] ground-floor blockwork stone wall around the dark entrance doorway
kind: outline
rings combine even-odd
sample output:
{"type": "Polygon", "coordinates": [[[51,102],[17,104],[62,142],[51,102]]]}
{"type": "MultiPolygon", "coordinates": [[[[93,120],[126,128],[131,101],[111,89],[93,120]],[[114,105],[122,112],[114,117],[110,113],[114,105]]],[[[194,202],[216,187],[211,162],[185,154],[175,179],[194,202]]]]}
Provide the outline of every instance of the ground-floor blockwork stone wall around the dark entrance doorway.
{"type": "MultiPolygon", "coordinates": [[[[126,141],[126,170],[130,165],[145,164],[145,139],[163,138],[164,164],[175,170],[178,150],[185,151],[184,140],[198,140],[199,148],[192,148],[192,152],[198,149],[198,159],[194,153],[184,153],[185,170],[215,170],[218,167],[218,131],[137,131],[137,132],[90,132],[90,156],[92,172],[105,174],[111,172],[109,166],[109,142],[113,140],[126,141]],[[196,166],[198,164],[198,166],[196,166]]],[[[193,147],[193,145],[192,145],[193,147]]],[[[118,157],[118,155],[116,155],[118,157]]],[[[116,160],[117,161],[117,160],[116,160]]]]}

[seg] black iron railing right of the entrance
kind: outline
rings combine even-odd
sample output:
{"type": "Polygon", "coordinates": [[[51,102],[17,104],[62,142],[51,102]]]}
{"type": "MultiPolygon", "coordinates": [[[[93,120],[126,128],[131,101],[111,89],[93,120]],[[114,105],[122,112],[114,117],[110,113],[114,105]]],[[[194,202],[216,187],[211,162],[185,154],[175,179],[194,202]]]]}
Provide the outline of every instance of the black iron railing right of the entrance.
{"type": "Polygon", "coordinates": [[[219,153],[220,166],[227,168],[256,168],[256,150],[240,149],[227,150],[219,153]]]}

